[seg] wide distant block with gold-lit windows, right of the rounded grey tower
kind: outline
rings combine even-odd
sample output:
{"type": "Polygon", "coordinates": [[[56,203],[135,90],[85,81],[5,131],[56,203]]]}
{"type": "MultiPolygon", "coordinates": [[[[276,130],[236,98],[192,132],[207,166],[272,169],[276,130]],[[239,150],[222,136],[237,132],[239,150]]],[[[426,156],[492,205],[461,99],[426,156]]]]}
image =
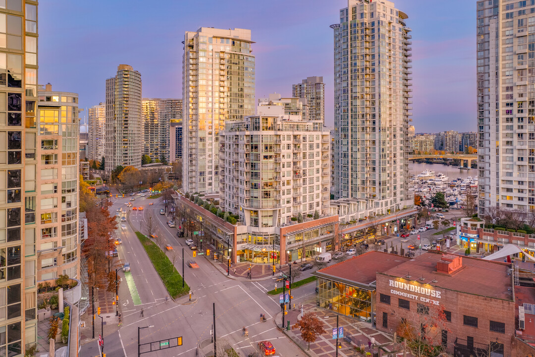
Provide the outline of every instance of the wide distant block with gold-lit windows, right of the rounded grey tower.
{"type": "Polygon", "coordinates": [[[171,120],[178,120],[178,115],[182,114],[182,101],[143,98],[141,113],[144,127],[143,155],[148,155],[153,162],[158,159],[168,163],[170,160],[170,124],[171,120]]]}

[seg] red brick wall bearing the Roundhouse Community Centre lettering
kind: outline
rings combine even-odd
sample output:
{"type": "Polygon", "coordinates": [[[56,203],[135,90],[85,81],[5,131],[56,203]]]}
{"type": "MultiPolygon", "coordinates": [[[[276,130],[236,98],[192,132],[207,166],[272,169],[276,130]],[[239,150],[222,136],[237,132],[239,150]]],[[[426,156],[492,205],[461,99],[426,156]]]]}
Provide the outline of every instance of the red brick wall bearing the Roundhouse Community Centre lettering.
{"type": "MultiPolygon", "coordinates": [[[[451,277],[450,277],[451,278],[451,277]]],[[[477,277],[475,277],[477,279],[477,277]]],[[[515,333],[515,303],[514,301],[492,299],[488,297],[482,297],[478,295],[466,294],[458,291],[447,290],[440,287],[433,286],[434,290],[441,292],[441,298],[431,298],[435,301],[439,301],[439,305],[432,305],[431,303],[425,303],[422,301],[416,301],[414,299],[401,297],[391,293],[391,290],[403,291],[400,288],[389,286],[390,279],[399,279],[396,277],[387,276],[384,274],[377,274],[377,294],[382,293],[389,295],[390,305],[380,302],[377,299],[377,328],[381,331],[393,333],[401,323],[401,318],[407,318],[413,325],[419,326],[420,323],[429,324],[432,323],[433,310],[435,312],[440,309],[451,312],[451,322],[440,322],[437,329],[448,330],[448,344],[447,352],[452,353],[454,342],[456,338],[466,340],[467,336],[473,337],[475,344],[488,345],[491,341],[498,341],[503,344],[504,356],[509,357],[511,355],[511,336],[515,333]],[[399,307],[399,299],[410,301],[410,310],[399,307]],[[416,312],[417,303],[430,307],[431,317],[423,316],[416,312]],[[387,328],[383,327],[383,312],[387,313],[387,328]],[[472,327],[464,325],[463,315],[473,316],[478,318],[478,327],[472,327]],[[490,321],[505,323],[505,333],[498,333],[490,331],[490,321]]],[[[424,284],[422,284],[424,285],[424,284]]],[[[430,287],[427,285],[426,287],[430,287]]],[[[499,288],[499,287],[496,287],[499,288]]],[[[418,297],[424,297],[425,295],[411,293],[418,297]]],[[[430,298],[430,297],[427,297],[430,298]]],[[[437,316],[435,314],[435,316],[437,316]]],[[[438,332],[438,344],[440,344],[440,331],[438,332]]],[[[463,342],[462,344],[465,344],[463,342]]]]}

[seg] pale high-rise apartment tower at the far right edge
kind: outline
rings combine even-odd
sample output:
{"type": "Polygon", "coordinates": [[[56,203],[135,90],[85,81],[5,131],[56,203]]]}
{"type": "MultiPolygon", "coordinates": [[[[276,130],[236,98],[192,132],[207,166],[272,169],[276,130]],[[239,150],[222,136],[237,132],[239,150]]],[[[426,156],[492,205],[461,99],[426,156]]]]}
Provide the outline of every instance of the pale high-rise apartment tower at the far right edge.
{"type": "Polygon", "coordinates": [[[535,209],[535,3],[477,2],[478,213],[535,209]]]}

